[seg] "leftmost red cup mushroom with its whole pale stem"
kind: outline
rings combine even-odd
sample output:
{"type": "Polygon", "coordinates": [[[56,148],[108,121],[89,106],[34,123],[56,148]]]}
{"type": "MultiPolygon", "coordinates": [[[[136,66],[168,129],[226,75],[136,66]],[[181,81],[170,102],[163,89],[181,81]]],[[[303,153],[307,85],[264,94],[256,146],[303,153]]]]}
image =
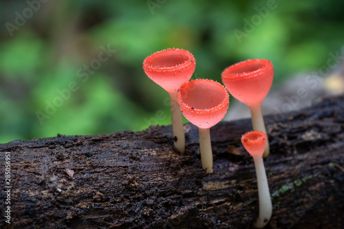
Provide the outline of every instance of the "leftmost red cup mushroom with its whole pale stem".
{"type": "Polygon", "coordinates": [[[182,155],[185,151],[185,136],[177,94],[178,89],[190,80],[195,66],[193,54],[174,48],[155,52],[143,61],[147,76],[169,93],[174,146],[182,155]]]}

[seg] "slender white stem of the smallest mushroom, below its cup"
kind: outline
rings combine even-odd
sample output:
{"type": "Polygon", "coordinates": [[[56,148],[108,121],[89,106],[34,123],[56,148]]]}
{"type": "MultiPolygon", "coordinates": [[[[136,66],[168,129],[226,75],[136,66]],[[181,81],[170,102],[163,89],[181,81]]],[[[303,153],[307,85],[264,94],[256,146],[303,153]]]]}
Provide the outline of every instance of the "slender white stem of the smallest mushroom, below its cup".
{"type": "Polygon", "coordinates": [[[259,197],[259,216],[253,226],[255,228],[264,228],[272,215],[272,202],[263,157],[253,157],[253,160],[255,161],[259,197]]]}

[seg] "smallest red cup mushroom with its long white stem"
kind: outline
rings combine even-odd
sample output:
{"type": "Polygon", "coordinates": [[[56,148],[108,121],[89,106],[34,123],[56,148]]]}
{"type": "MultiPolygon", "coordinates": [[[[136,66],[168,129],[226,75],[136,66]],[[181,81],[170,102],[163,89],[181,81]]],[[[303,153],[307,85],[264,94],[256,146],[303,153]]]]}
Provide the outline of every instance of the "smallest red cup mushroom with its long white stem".
{"type": "Polygon", "coordinates": [[[264,228],[272,215],[272,202],[263,161],[267,140],[266,134],[261,131],[248,132],[241,137],[242,144],[255,162],[259,197],[259,216],[253,224],[255,228],[264,228]]]}

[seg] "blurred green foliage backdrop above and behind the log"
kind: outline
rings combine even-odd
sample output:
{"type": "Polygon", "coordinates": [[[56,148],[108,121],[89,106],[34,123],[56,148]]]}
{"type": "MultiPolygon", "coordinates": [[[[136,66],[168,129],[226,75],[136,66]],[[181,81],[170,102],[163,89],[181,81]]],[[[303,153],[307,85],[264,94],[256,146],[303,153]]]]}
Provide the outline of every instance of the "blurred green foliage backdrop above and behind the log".
{"type": "Polygon", "coordinates": [[[193,53],[193,78],[219,82],[228,65],[268,58],[278,85],[344,44],[341,0],[8,0],[0,9],[0,143],[170,124],[166,91],[142,70],[168,47],[193,53]]]}

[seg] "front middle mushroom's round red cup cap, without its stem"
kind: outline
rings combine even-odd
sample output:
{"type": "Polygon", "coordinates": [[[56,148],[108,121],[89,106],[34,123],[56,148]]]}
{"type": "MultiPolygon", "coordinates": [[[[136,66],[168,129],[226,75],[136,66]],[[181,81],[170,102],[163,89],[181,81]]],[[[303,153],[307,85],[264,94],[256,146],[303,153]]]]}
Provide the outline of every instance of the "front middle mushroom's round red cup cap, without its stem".
{"type": "Polygon", "coordinates": [[[229,95],[226,88],[214,80],[191,80],[178,91],[178,104],[189,122],[206,129],[224,118],[229,95]]]}

